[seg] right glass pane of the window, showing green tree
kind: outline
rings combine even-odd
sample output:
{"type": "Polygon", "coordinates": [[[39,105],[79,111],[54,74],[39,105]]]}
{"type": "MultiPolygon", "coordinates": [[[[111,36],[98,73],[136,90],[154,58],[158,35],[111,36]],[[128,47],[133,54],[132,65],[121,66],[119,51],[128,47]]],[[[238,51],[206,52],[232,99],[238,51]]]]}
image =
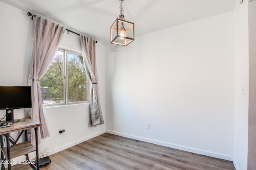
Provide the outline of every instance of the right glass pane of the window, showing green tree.
{"type": "Polygon", "coordinates": [[[86,101],[86,70],[82,55],[67,52],[68,102],[86,101]]]}

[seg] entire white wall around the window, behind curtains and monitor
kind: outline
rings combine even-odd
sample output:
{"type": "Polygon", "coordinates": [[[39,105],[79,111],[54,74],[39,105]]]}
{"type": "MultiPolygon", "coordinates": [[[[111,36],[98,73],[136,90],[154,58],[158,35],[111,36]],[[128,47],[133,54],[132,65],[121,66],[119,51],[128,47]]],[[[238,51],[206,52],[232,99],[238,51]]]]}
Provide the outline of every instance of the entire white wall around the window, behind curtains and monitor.
{"type": "MultiPolygon", "coordinates": [[[[26,12],[0,2],[0,86],[26,86],[30,68],[34,21],[26,12]],[[6,16],[8,14],[8,17],[6,16]]],[[[78,35],[65,33],[62,47],[81,51],[78,35]]],[[[105,46],[96,44],[98,80],[103,117],[105,119],[105,46]]],[[[5,111],[0,111],[4,116],[5,111]]],[[[50,137],[42,140],[39,151],[54,148],[55,152],[66,149],[94,136],[105,133],[106,125],[88,127],[89,104],[46,107],[50,137]],[[59,134],[60,129],[65,133],[59,134]]],[[[23,118],[24,109],[14,110],[14,119],[23,118]]],[[[33,154],[32,154],[33,155],[33,154]]]]}

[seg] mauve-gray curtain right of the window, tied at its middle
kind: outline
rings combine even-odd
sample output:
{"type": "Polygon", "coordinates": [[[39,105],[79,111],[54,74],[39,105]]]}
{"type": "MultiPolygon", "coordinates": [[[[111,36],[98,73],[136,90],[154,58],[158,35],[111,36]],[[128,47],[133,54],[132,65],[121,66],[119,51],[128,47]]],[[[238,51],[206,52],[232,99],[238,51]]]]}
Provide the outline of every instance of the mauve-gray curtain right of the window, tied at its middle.
{"type": "Polygon", "coordinates": [[[87,77],[90,79],[90,114],[89,114],[89,126],[96,126],[104,124],[101,106],[100,95],[98,88],[98,74],[96,66],[95,55],[95,40],[88,38],[84,35],[80,35],[83,60],[86,66],[87,77]]]}

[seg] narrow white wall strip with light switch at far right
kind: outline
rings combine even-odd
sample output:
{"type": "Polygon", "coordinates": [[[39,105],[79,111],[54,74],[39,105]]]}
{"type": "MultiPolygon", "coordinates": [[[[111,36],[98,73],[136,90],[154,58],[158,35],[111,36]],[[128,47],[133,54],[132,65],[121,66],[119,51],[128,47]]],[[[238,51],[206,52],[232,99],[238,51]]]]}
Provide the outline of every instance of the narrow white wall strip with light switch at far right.
{"type": "Polygon", "coordinates": [[[234,10],[235,23],[235,124],[234,165],[237,170],[247,169],[248,152],[248,1],[234,10]]]}

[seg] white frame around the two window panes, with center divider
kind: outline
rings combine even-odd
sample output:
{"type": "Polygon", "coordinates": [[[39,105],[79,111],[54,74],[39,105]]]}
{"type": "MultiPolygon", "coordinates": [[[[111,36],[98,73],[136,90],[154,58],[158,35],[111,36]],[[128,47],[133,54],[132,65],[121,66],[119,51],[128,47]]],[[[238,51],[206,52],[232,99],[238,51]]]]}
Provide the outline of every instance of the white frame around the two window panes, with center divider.
{"type": "MultiPolygon", "coordinates": [[[[83,57],[83,60],[84,60],[84,55],[81,51],[75,51],[75,50],[72,50],[72,49],[67,49],[67,48],[64,48],[64,47],[59,47],[57,51],[62,51],[63,52],[63,82],[64,82],[64,85],[63,85],[63,92],[64,92],[64,96],[63,96],[63,100],[64,100],[64,103],[60,103],[60,104],[47,104],[47,105],[44,105],[43,103],[43,106],[44,107],[52,107],[52,106],[67,106],[67,105],[73,105],[73,104],[83,104],[83,103],[89,103],[89,100],[88,100],[88,97],[89,97],[89,89],[90,89],[90,86],[91,86],[91,83],[90,83],[90,80],[88,80],[88,76],[87,76],[87,72],[86,72],[86,101],[79,101],[79,102],[68,102],[68,53],[72,53],[72,54],[75,54],[75,55],[80,55],[83,57]]],[[[54,55],[55,57],[55,55],[54,55]]],[[[84,66],[86,67],[86,65],[84,64],[84,66]]]]}

